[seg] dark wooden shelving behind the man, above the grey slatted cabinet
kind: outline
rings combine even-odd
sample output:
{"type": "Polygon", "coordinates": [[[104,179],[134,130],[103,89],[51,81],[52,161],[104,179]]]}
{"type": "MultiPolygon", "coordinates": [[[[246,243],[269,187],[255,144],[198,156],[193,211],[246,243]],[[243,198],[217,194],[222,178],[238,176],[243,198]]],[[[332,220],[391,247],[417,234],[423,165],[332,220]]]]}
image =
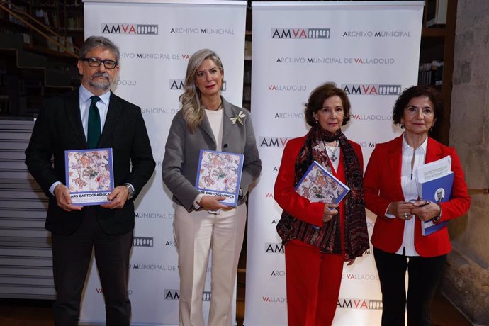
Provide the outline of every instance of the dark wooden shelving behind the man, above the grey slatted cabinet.
{"type": "Polygon", "coordinates": [[[35,116],[46,97],[79,85],[81,0],[0,2],[0,116],[35,116]]]}

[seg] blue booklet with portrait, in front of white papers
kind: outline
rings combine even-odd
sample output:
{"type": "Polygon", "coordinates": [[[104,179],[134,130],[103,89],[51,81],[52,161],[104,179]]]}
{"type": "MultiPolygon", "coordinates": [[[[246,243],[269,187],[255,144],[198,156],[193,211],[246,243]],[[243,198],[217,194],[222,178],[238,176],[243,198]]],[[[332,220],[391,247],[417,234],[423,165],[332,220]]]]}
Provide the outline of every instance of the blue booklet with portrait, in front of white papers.
{"type": "MultiPolygon", "coordinates": [[[[420,198],[432,201],[433,203],[444,203],[451,198],[451,188],[454,186],[454,172],[450,172],[445,176],[440,176],[437,179],[425,181],[418,184],[420,190],[420,198]]],[[[421,234],[431,235],[434,232],[446,227],[449,221],[434,223],[433,220],[428,220],[421,223],[421,234]]]]}

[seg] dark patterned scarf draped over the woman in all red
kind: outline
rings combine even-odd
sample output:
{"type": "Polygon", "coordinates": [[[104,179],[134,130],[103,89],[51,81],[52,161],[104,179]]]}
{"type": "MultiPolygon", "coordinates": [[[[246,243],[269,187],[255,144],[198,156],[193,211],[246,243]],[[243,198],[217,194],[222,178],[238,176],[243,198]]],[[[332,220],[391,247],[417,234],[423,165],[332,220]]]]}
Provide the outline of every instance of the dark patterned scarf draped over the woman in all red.
{"type": "MultiPolygon", "coordinates": [[[[369,233],[366,227],[362,182],[363,167],[360,167],[359,158],[341,130],[337,130],[336,133],[329,133],[320,128],[320,125],[310,128],[296,159],[294,186],[298,184],[314,160],[330,169],[330,160],[325,150],[320,150],[320,143],[335,140],[338,140],[343,153],[346,184],[350,189],[344,198],[344,251],[345,259],[352,259],[360,257],[366,249],[369,249],[369,233]]],[[[283,244],[298,239],[309,245],[319,247],[321,252],[330,254],[341,254],[342,252],[339,214],[317,229],[283,210],[276,229],[283,244]]]]}

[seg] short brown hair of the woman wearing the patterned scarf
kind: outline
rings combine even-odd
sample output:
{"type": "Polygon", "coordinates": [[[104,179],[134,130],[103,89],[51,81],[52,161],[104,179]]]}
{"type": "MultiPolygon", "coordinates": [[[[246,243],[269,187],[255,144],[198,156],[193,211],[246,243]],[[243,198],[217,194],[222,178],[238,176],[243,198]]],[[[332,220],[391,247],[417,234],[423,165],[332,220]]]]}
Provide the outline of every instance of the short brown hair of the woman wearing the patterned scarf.
{"type": "Polygon", "coordinates": [[[325,99],[331,96],[339,96],[342,99],[344,118],[342,125],[346,125],[350,120],[350,101],[348,99],[347,92],[339,89],[335,83],[327,82],[317,86],[309,95],[308,103],[305,103],[305,122],[311,127],[316,124],[316,120],[313,113],[320,111],[322,104],[325,103],[325,99]]]}

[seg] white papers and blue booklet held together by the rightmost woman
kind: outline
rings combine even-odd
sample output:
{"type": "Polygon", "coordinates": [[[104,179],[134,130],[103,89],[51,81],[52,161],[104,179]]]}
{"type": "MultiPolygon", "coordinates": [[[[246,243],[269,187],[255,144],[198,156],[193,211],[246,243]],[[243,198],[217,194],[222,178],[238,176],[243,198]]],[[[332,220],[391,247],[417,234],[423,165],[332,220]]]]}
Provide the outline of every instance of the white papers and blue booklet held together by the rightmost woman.
{"type": "MultiPolygon", "coordinates": [[[[451,198],[454,185],[454,172],[451,171],[451,157],[446,156],[418,167],[416,172],[417,189],[420,198],[433,203],[444,203],[451,198]]],[[[448,225],[449,221],[427,220],[421,223],[421,234],[431,235],[448,225]]]]}

